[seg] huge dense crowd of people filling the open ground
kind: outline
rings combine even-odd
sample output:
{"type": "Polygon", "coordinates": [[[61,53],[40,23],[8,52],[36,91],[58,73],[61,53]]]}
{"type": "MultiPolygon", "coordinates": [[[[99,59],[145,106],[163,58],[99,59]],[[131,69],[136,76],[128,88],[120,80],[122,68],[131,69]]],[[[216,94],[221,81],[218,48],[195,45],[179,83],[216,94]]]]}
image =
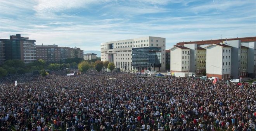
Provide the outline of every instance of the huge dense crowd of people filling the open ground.
{"type": "Polygon", "coordinates": [[[0,81],[0,131],[256,128],[255,85],[96,72],[16,79],[0,81]]]}

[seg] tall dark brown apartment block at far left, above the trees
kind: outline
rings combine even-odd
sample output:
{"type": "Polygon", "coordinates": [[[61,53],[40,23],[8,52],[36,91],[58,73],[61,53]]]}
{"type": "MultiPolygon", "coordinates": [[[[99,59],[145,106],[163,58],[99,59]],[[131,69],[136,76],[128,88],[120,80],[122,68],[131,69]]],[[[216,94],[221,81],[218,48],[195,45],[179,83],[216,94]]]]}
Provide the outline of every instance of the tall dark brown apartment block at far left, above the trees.
{"type": "Polygon", "coordinates": [[[35,42],[21,34],[10,35],[10,39],[0,39],[5,44],[5,60],[20,59],[24,63],[36,60],[35,42]]]}

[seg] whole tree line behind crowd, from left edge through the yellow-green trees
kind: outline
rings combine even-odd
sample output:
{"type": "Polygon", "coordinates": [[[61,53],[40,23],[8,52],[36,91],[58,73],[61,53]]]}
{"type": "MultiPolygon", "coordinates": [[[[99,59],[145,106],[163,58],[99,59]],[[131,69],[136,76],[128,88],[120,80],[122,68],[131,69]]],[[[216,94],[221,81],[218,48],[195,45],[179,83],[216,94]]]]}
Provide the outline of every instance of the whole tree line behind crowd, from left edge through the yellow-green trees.
{"type": "Polygon", "coordinates": [[[79,58],[66,59],[65,62],[61,61],[59,63],[47,63],[43,59],[36,60],[34,62],[25,64],[22,60],[7,60],[3,65],[0,66],[0,77],[7,76],[8,74],[24,74],[32,71],[39,71],[42,76],[47,75],[46,69],[51,71],[75,68],[81,72],[86,72],[88,69],[95,69],[100,72],[103,67],[112,71],[115,66],[114,63],[109,63],[108,61],[95,60],[83,60],[79,58]],[[79,63],[79,64],[78,64],[79,63]]]}

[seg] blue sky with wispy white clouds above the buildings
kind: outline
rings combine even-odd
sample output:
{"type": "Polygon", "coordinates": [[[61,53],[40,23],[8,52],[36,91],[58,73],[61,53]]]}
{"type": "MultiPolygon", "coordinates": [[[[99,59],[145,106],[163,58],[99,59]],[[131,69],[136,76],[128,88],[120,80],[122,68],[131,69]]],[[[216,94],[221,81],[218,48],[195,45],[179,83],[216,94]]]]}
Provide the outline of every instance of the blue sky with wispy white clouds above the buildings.
{"type": "Polygon", "coordinates": [[[145,36],[177,42],[256,36],[256,0],[0,0],[0,37],[100,50],[145,36]]]}

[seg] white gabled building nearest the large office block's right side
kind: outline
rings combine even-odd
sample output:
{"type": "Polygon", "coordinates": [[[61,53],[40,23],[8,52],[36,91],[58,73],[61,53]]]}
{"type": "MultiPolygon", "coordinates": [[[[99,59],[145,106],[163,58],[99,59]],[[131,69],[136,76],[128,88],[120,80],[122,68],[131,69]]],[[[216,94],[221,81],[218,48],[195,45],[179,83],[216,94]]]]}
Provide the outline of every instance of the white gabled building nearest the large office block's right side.
{"type": "Polygon", "coordinates": [[[173,46],[170,49],[171,72],[189,72],[190,49],[184,46],[173,46]]]}

